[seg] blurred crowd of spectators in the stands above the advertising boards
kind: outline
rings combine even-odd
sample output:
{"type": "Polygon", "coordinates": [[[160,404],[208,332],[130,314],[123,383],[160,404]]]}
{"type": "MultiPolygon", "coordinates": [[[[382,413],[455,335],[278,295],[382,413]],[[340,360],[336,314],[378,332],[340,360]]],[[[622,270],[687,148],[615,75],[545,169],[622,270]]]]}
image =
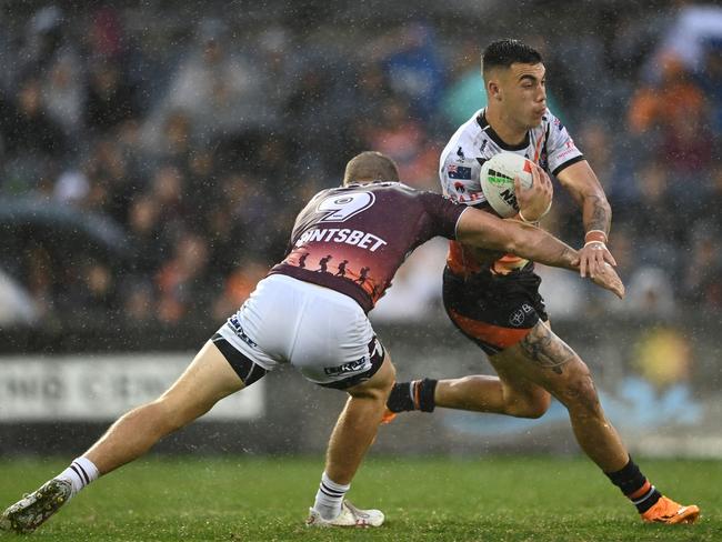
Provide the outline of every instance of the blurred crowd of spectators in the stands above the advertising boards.
{"type": "MultiPolygon", "coordinates": [[[[600,303],[542,270],[551,313],[720,309],[722,8],[654,4],[601,10],[574,37],[483,18],[473,32],[253,24],[159,3],[0,19],[0,324],[222,321],[354,153],[385,152],[439,190],[441,149],[485,102],[480,50],[507,36],[545,59],[550,109],[612,203],[631,298],[600,303]]],[[[545,227],[583,238],[559,185],[545,227]]],[[[443,260],[444,243],[413,258],[378,318],[428,314],[443,260]]]]}

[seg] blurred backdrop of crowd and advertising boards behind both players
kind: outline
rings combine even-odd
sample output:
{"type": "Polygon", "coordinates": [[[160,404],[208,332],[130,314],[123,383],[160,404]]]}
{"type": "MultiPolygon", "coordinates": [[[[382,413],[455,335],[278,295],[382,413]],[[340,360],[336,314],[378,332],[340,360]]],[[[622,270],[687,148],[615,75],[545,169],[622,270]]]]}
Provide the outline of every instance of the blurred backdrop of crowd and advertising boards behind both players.
{"type": "MultiPolygon", "coordinates": [[[[0,454],[77,452],[161,392],[357,152],[439,191],[505,37],[544,57],[628,285],[620,302],[541,269],[555,330],[633,452],[722,456],[722,8],[661,0],[4,1],[0,454]]],[[[555,189],[544,227],[579,247],[555,189]]],[[[443,314],[444,255],[414,253],[372,313],[400,379],[490,371],[443,314]]],[[[317,452],[343,402],[288,370],[240,395],[160,450],[317,452]]],[[[576,453],[559,404],[409,414],[375,449],[576,453]]]]}

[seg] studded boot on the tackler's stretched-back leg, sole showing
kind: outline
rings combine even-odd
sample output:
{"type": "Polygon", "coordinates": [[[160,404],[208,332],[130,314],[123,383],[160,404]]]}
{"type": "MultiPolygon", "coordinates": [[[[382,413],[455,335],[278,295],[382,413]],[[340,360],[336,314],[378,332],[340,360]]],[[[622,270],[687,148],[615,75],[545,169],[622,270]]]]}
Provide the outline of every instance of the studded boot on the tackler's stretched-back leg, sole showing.
{"type": "Polygon", "coordinates": [[[31,533],[67,503],[70,496],[70,482],[52,479],[6,510],[0,516],[0,531],[31,533]]]}

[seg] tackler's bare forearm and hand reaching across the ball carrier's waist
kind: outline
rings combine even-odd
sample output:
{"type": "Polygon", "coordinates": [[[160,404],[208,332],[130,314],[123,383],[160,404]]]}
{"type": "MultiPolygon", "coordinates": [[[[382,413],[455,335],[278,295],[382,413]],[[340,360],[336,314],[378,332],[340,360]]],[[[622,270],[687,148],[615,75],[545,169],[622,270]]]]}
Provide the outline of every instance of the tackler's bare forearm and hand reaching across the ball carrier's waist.
{"type": "MultiPolygon", "coordinates": [[[[459,218],[457,240],[488,250],[511,252],[545,265],[579,270],[580,254],[550,233],[530,224],[501,220],[477,209],[468,209],[459,218]]],[[[608,264],[590,275],[591,280],[618,298],[624,297],[624,284],[608,264]]]]}

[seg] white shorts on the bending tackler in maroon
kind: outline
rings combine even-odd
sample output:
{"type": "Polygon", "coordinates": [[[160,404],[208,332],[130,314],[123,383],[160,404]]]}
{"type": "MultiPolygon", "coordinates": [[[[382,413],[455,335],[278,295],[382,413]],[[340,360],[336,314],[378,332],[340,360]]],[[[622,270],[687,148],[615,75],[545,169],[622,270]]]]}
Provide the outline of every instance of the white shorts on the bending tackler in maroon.
{"type": "Polygon", "coordinates": [[[260,281],[218,333],[265,370],[290,363],[331,388],[363,382],[383,362],[383,348],[355,301],[283,274],[260,281]]]}

